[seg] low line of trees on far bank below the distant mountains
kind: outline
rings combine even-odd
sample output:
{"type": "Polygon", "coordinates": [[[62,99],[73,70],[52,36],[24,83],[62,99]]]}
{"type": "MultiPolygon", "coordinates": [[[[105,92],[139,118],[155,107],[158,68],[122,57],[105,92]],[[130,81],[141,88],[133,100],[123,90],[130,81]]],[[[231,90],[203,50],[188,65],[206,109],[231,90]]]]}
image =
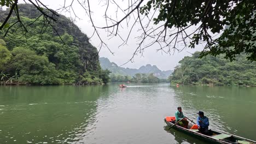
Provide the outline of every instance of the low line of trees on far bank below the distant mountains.
{"type": "Polygon", "coordinates": [[[128,75],[115,75],[111,74],[110,79],[112,82],[143,82],[143,83],[158,83],[158,82],[166,82],[158,77],[154,76],[154,74],[135,74],[135,76],[131,77],[128,75]]]}

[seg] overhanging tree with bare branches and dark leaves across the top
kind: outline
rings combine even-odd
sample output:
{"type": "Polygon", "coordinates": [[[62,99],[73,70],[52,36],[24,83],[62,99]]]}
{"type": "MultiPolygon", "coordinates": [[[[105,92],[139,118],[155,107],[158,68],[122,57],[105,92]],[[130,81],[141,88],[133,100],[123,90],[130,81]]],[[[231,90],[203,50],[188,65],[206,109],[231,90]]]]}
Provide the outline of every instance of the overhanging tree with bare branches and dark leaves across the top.
{"type": "MultiPolygon", "coordinates": [[[[35,2],[25,0],[25,2],[31,3],[44,16],[44,23],[58,20],[55,11],[50,10],[39,0],[35,0],[35,2]]],[[[127,9],[121,9],[114,0],[102,2],[106,9],[103,16],[106,20],[104,27],[95,25],[94,17],[91,15],[93,9],[90,7],[89,0],[72,1],[70,4],[66,4],[65,1],[60,10],[70,11],[75,15],[73,4],[79,4],[91,20],[91,25],[95,30],[94,34],[100,39],[100,47],[107,46],[107,44],[101,39],[98,29],[106,29],[109,37],[121,37],[119,33],[121,33],[122,25],[130,26],[130,33],[135,31],[134,25],[138,25],[138,30],[141,32],[137,35],[139,42],[130,61],[137,53],[142,53],[144,49],[154,46],[154,44],[159,44],[158,50],[166,53],[171,53],[172,50],[182,51],[184,47],[195,48],[196,45],[203,44],[204,49],[200,53],[201,58],[206,55],[217,56],[224,53],[225,58],[232,61],[237,55],[245,52],[249,61],[256,61],[254,43],[256,7],[254,0],[132,0],[128,1],[127,9]],[[121,11],[122,17],[116,16],[114,19],[108,13],[109,5],[116,7],[117,11],[121,11]],[[218,36],[215,37],[216,35],[218,36]],[[184,47],[178,46],[178,43],[183,43],[184,47]]],[[[10,9],[0,26],[0,30],[5,27],[5,31],[8,32],[10,27],[20,23],[21,28],[27,32],[18,13],[18,0],[3,0],[1,5],[10,7],[10,9]],[[14,12],[16,12],[17,21],[9,24],[10,15],[14,12]]],[[[119,12],[117,12],[118,14],[119,12]]],[[[127,43],[130,33],[126,38],[121,38],[123,40],[121,45],[127,43]]]]}

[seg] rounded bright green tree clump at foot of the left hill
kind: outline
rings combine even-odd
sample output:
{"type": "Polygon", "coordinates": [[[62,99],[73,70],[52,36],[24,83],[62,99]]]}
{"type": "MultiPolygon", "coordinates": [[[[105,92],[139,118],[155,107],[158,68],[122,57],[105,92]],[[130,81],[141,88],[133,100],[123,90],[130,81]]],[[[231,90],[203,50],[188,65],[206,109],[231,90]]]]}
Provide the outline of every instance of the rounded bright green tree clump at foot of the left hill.
{"type": "Polygon", "coordinates": [[[59,85],[62,83],[53,63],[45,56],[38,56],[24,47],[15,47],[12,68],[18,71],[19,81],[37,85],[59,85]]]}

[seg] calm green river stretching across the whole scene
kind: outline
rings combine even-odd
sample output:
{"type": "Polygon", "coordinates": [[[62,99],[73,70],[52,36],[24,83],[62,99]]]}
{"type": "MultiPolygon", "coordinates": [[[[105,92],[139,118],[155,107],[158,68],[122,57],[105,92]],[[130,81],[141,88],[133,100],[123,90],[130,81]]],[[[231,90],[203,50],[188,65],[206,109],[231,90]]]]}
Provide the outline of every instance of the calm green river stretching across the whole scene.
{"type": "Polygon", "coordinates": [[[177,106],[210,128],[256,140],[256,88],[118,83],[1,86],[0,143],[206,143],[163,119],[177,106]]]}

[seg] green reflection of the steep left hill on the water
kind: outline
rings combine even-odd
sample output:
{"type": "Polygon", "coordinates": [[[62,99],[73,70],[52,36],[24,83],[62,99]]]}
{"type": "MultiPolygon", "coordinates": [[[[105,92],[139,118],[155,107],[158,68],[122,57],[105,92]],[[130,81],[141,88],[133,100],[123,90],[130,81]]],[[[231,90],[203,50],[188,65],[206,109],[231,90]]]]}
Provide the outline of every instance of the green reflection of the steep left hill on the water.
{"type": "Polygon", "coordinates": [[[79,141],[94,127],[97,100],[108,91],[108,86],[1,87],[0,100],[6,112],[0,139],[18,143],[79,141]]]}

